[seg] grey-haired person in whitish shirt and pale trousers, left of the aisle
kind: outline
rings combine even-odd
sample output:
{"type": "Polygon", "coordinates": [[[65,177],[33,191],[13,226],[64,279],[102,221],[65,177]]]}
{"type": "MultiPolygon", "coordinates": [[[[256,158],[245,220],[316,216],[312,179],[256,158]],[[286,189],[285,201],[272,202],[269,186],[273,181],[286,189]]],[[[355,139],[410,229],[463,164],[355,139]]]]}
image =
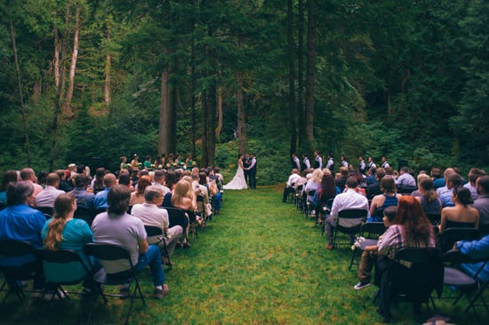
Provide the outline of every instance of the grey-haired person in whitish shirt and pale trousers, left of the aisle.
{"type": "MultiPolygon", "coordinates": [[[[166,210],[158,208],[163,203],[164,198],[163,191],[159,187],[147,186],[144,190],[144,198],[146,200],[144,203],[139,203],[132,207],[132,216],[140,218],[144,225],[161,228],[168,255],[172,256],[183,229],[181,226],[169,227],[168,213],[166,210]]],[[[159,240],[156,238],[148,238],[149,244],[158,242],[159,240]]],[[[159,243],[159,248],[160,250],[164,248],[162,242],[159,243]]]]}

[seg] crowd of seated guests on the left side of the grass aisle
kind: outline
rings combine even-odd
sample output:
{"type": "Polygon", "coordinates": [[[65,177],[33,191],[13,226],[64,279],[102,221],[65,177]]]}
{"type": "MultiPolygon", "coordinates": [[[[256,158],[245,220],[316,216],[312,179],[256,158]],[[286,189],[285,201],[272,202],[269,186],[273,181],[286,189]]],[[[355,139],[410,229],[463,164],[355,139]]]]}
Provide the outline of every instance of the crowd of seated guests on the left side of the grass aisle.
{"type": "MultiPolygon", "coordinates": [[[[38,175],[31,168],[7,170],[0,187],[0,240],[26,241],[36,249],[74,250],[87,266],[95,271],[103,267],[110,274],[124,272],[127,261],[87,258],[84,245],[121,246],[129,251],[136,272],[149,266],[154,295],[161,299],[169,292],[163,266],[172,265],[170,257],[177,246],[190,247],[191,227],[205,226],[212,215],[220,214],[222,185],[219,169],[212,167],[130,171],[121,163],[116,172],[97,169],[93,178],[90,170],[75,164],[38,175]],[[172,225],[164,208],[183,210],[183,220],[172,225]],[[163,237],[148,237],[145,226],[160,228],[163,237]]],[[[41,297],[46,287],[44,269],[32,259],[0,257],[0,265],[36,264],[33,296],[41,297]]],[[[62,276],[66,271],[52,272],[62,276]]],[[[83,267],[70,272],[81,273],[83,267]]],[[[95,289],[100,288],[87,274],[84,297],[92,297],[95,289]]],[[[129,283],[121,286],[120,293],[130,294],[129,283]]],[[[43,293],[47,299],[64,296],[64,292],[43,293]]]]}

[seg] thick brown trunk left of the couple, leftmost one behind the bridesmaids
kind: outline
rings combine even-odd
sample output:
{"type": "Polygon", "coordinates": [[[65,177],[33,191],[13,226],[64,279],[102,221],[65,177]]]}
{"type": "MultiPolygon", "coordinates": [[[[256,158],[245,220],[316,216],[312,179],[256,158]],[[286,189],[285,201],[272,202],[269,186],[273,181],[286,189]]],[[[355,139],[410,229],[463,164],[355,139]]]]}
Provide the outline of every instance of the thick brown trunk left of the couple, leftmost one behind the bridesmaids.
{"type": "Polygon", "coordinates": [[[171,112],[168,92],[168,69],[161,74],[160,118],[158,123],[158,155],[168,155],[170,149],[171,112]]]}

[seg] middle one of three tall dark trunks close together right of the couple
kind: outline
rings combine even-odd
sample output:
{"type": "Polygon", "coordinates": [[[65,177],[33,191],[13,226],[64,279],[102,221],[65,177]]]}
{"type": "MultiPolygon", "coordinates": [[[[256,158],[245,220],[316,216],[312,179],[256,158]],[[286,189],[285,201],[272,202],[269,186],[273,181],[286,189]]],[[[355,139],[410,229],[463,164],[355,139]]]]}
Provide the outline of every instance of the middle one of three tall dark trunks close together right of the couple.
{"type": "Polygon", "coordinates": [[[304,2],[298,1],[297,22],[297,130],[299,149],[305,150],[306,120],[304,114],[304,2]]]}

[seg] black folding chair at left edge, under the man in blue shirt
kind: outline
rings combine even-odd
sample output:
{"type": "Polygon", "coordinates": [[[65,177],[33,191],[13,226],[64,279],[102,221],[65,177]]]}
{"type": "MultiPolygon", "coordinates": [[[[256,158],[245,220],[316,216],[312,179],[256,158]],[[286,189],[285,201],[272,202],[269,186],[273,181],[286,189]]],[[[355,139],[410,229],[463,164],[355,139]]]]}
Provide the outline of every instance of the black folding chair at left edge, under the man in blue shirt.
{"type": "Polygon", "coordinates": [[[0,291],[6,291],[0,305],[4,305],[5,300],[12,293],[19,298],[26,297],[18,281],[33,280],[36,274],[42,272],[42,266],[36,256],[36,247],[30,242],[0,241],[0,256],[3,259],[24,257],[27,260],[27,262],[19,266],[11,266],[7,263],[0,264],[0,271],[4,274],[4,282],[2,283],[2,287],[0,287],[0,291]]]}

